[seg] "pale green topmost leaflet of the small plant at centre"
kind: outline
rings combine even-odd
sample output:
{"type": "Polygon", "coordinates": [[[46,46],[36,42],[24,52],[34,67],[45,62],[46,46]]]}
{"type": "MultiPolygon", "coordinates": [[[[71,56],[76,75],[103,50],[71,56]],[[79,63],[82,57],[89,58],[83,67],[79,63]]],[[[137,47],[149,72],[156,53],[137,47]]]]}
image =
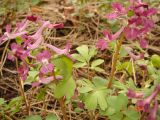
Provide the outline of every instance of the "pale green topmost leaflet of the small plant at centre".
{"type": "Polygon", "coordinates": [[[79,52],[79,54],[81,54],[81,56],[83,56],[85,58],[85,60],[87,62],[89,62],[89,53],[88,53],[89,50],[88,50],[88,46],[87,45],[82,45],[82,46],[79,46],[76,49],[79,52]]]}

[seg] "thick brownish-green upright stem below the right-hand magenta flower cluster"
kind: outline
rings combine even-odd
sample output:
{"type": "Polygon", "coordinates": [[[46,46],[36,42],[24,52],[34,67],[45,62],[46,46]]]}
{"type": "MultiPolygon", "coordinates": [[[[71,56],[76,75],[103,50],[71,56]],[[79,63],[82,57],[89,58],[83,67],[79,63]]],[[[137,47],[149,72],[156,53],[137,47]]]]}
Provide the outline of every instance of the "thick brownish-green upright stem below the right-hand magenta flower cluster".
{"type": "Polygon", "coordinates": [[[116,71],[116,64],[117,64],[117,60],[118,60],[119,51],[120,51],[121,45],[124,40],[125,40],[125,38],[124,38],[124,35],[122,34],[120,37],[120,40],[117,41],[117,43],[116,43],[116,49],[115,49],[115,53],[113,54],[113,58],[112,58],[112,68],[111,68],[111,74],[109,77],[109,83],[108,83],[107,88],[112,87],[112,81],[114,78],[114,73],[116,71]]]}

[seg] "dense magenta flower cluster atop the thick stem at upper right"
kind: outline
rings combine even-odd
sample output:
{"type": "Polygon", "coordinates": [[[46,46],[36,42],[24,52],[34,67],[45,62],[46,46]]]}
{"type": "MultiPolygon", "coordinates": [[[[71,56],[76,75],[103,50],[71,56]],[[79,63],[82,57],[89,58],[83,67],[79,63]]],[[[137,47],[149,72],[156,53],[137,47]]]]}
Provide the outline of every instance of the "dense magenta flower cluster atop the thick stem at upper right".
{"type": "MultiPolygon", "coordinates": [[[[148,45],[146,34],[154,27],[151,16],[156,14],[157,10],[149,8],[141,0],[130,0],[130,6],[126,8],[121,3],[113,3],[112,8],[113,12],[107,14],[107,19],[122,21],[122,27],[114,34],[108,30],[103,31],[103,35],[109,40],[108,42],[116,40],[121,34],[124,34],[127,40],[139,41],[140,46],[146,48],[148,45]]],[[[104,50],[104,44],[100,45],[100,43],[102,40],[97,43],[97,48],[104,50]]]]}

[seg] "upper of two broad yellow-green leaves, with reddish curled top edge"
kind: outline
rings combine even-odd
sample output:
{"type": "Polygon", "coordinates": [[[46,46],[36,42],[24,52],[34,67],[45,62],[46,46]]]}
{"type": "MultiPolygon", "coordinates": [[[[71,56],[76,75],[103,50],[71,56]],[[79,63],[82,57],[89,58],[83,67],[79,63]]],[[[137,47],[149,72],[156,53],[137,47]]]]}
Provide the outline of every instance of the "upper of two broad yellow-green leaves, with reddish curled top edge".
{"type": "Polygon", "coordinates": [[[60,74],[63,76],[63,80],[68,80],[72,75],[73,62],[68,57],[62,55],[53,60],[56,68],[59,69],[60,74]]]}

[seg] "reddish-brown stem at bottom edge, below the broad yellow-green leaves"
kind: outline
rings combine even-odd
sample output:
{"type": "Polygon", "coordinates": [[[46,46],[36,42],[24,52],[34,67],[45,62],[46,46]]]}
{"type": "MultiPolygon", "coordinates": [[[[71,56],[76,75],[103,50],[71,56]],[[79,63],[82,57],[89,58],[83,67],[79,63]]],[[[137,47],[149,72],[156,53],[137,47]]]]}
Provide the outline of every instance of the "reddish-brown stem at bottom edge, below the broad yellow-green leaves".
{"type": "Polygon", "coordinates": [[[66,106],[65,106],[65,102],[63,97],[60,98],[59,100],[60,106],[61,106],[61,110],[62,110],[62,114],[63,114],[63,120],[68,120],[67,118],[67,114],[66,114],[66,106]]]}

